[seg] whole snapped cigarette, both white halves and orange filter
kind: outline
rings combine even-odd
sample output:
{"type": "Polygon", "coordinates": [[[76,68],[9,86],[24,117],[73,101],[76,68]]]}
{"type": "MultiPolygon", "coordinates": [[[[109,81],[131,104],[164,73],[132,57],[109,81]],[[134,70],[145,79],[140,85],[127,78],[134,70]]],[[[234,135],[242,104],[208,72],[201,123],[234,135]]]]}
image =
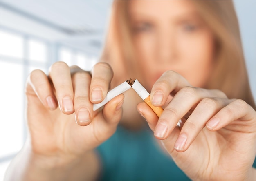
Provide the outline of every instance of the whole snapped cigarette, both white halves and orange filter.
{"type": "Polygon", "coordinates": [[[120,85],[118,85],[117,87],[115,87],[114,89],[110,90],[107,94],[107,96],[105,97],[105,99],[98,104],[94,104],[93,105],[93,110],[97,110],[99,109],[101,106],[105,105],[106,103],[108,103],[108,101],[110,101],[112,98],[114,98],[115,96],[118,96],[119,94],[122,94],[123,92],[127,91],[128,89],[133,88],[137,94],[139,94],[139,96],[144,100],[144,102],[155,112],[155,114],[160,117],[162,112],[163,112],[163,108],[162,107],[155,107],[151,104],[150,102],[150,94],[148,93],[148,91],[139,83],[139,81],[137,79],[129,79],[126,80],[125,82],[121,83],[120,85]]]}

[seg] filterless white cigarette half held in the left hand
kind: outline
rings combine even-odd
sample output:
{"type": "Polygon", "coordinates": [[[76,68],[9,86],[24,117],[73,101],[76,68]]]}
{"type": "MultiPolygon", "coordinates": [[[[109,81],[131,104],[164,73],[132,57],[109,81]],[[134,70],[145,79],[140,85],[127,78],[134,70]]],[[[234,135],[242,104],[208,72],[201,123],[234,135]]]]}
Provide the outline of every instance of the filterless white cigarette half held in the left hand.
{"type": "Polygon", "coordinates": [[[114,89],[110,90],[108,94],[106,95],[105,99],[98,104],[93,105],[93,110],[96,111],[101,106],[108,103],[112,98],[115,96],[118,96],[119,94],[122,94],[123,92],[127,91],[128,89],[132,88],[126,81],[115,87],[114,89]]]}

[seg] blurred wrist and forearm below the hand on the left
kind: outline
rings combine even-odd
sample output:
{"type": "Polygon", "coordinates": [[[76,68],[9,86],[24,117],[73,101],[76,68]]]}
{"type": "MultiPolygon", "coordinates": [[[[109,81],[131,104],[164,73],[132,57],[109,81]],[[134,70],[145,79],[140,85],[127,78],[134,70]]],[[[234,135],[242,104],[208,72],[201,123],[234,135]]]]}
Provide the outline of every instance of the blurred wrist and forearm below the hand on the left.
{"type": "Polygon", "coordinates": [[[25,145],[13,159],[5,174],[6,180],[69,181],[96,180],[99,159],[94,151],[82,155],[36,154],[25,145]]]}

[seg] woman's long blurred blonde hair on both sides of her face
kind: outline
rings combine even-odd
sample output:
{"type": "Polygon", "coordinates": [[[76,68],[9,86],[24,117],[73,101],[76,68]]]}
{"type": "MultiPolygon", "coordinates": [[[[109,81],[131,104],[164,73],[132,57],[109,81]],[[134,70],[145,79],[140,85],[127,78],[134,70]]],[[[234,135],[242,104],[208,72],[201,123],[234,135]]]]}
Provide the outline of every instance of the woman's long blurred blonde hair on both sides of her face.
{"type": "MultiPolygon", "coordinates": [[[[249,86],[238,19],[233,2],[230,1],[191,1],[203,20],[216,37],[216,68],[213,70],[207,87],[220,89],[229,98],[239,98],[256,109],[249,86]]],[[[127,69],[136,69],[130,27],[128,1],[114,0],[110,26],[106,36],[102,60],[110,63],[115,74],[129,78],[127,69]]],[[[114,76],[114,81],[115,76],[114,76]]]]}

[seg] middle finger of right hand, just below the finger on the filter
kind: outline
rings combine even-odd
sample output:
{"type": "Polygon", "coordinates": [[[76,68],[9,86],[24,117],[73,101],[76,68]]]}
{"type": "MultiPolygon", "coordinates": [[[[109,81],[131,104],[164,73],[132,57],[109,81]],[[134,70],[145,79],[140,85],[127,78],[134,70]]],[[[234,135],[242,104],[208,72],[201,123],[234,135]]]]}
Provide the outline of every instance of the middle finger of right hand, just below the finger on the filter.
{"type": "Polygon", "coordinates": [[[196,87],[183,87],[173,97],[170,103],[164,109],[164,112],[159,118],[157,127],[155,129],[155,136],[158,139],[166,139],[166,137],[172,132],[177,123],[187,113],[193,112],[196,105],[207,97],[223,96],[216,90],[206,90],[196,87]]]}

